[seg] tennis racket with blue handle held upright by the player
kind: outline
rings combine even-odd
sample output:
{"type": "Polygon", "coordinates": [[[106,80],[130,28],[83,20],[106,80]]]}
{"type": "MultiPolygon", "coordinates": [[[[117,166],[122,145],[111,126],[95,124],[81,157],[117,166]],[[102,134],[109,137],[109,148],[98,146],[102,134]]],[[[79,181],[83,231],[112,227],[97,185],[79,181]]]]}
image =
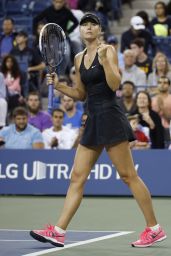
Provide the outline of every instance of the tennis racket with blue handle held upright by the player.
{"type": "MultiPolygon", "coordinates": [[[[39,49],[48,73],[57,72],[66,52],[66,36],[62,28],[55,23],[48,23],[40,31],[39,49]]],[[[53,108],[53,84],[48,87],[48,111],[53,108]]]]}

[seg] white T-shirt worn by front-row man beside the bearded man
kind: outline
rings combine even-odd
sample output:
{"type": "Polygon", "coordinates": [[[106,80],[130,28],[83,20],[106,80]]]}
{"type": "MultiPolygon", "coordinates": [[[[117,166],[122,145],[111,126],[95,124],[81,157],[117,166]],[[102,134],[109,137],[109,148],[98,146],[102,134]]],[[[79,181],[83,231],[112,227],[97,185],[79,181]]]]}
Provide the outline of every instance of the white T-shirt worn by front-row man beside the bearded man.
{"type": "Polygon", "coordinates": [[[54,128],[45,129],[42,132],[45,149],[51,149],[51,141],[57,138],[58,146],[53,149],[71,149],[78,136],[78,130],[62,126],[62,130],[54,131],[54,128]]]}

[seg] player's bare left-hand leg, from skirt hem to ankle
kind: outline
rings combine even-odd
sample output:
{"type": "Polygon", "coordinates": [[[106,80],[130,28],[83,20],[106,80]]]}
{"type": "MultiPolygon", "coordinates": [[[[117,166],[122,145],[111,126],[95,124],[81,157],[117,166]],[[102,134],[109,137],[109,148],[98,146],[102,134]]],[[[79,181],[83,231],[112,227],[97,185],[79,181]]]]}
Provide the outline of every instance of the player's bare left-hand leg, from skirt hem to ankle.
{"type": "Polygon", "coordinates": [[[65,230],[74,216],[82,200],[84,184],[102,150],[103,147],[101,146],[95,148],[87,148],[82,145],[78,146],[70,186],[61,216],[57,222],[58,227],[65,230]]]}

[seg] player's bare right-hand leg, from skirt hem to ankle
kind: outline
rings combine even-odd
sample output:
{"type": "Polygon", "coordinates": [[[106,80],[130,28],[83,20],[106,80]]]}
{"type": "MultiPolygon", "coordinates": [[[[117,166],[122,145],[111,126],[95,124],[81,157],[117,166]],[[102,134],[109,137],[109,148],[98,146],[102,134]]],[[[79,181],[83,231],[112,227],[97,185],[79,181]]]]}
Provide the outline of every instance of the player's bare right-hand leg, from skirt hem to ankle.
{"type": "Polygon", "coordinates": [[[148,227],[157,224],[150,193],[138,177],[128,142],[122,142],[115,146],[106,146],[107,153],[115,165],[121,179],[129,186],[134,198],[138,202],[148,227]]]}

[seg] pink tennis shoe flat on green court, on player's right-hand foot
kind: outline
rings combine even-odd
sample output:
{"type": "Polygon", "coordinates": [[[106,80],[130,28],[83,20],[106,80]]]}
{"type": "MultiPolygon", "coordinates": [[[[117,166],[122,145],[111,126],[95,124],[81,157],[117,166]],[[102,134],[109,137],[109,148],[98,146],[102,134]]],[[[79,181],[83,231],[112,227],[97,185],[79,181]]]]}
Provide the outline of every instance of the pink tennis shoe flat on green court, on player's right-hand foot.
{"type": "Polygon", "coordinates": [[[157,231],[146,228],[140,235],[139,240],[132,243],[133,247],[149,247],[154,243],[161,242],[166,239],[164,230],[159,227],[157,231]]]}

